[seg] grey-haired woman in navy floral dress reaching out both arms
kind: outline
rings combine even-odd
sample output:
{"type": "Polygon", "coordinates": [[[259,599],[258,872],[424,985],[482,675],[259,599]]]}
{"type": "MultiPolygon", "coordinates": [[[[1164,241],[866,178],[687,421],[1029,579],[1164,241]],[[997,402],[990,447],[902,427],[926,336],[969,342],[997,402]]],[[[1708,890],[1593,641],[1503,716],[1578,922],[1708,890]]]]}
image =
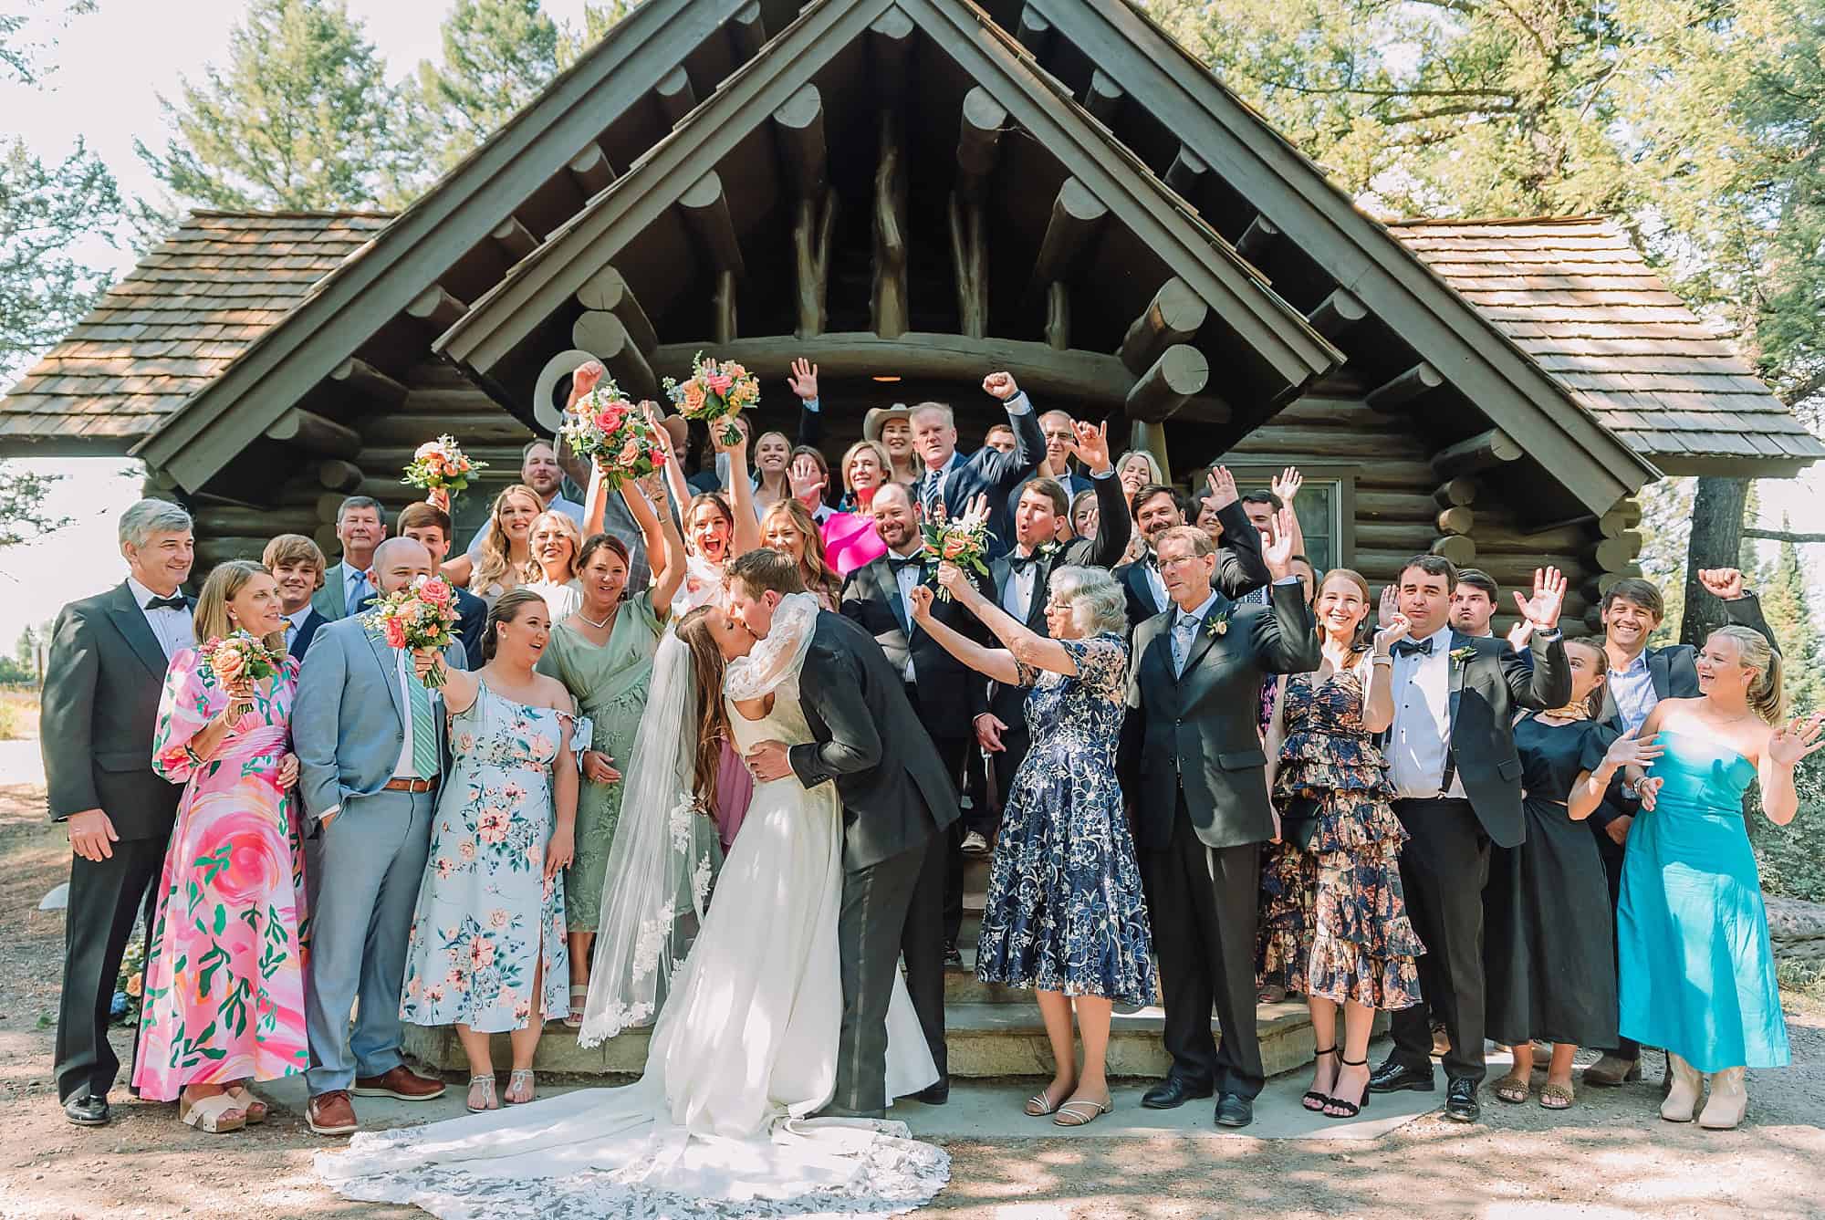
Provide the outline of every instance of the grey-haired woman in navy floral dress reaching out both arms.
{"type": "Polygon", "coordinates": [[[1115,780],[1128,692],[1126,597],[1100,568],[1055,570],[1048,637],[976,592],[954,564],[938,566],[938,583],[1004,648],[986,648],[931,617],[925,588],[914,590],[920,626],[991,679],[1031,687],[1026,718],[1033,745],[1009,785],[995,840],[976,975],[1033,988],[1055,1070],[1026,1110],[1057,1114],[1058,1127],[1082,1127],[1110,1112],[1113,1004],[1152,1004],[1155,994],[1141,868],[1115,780]]]}

